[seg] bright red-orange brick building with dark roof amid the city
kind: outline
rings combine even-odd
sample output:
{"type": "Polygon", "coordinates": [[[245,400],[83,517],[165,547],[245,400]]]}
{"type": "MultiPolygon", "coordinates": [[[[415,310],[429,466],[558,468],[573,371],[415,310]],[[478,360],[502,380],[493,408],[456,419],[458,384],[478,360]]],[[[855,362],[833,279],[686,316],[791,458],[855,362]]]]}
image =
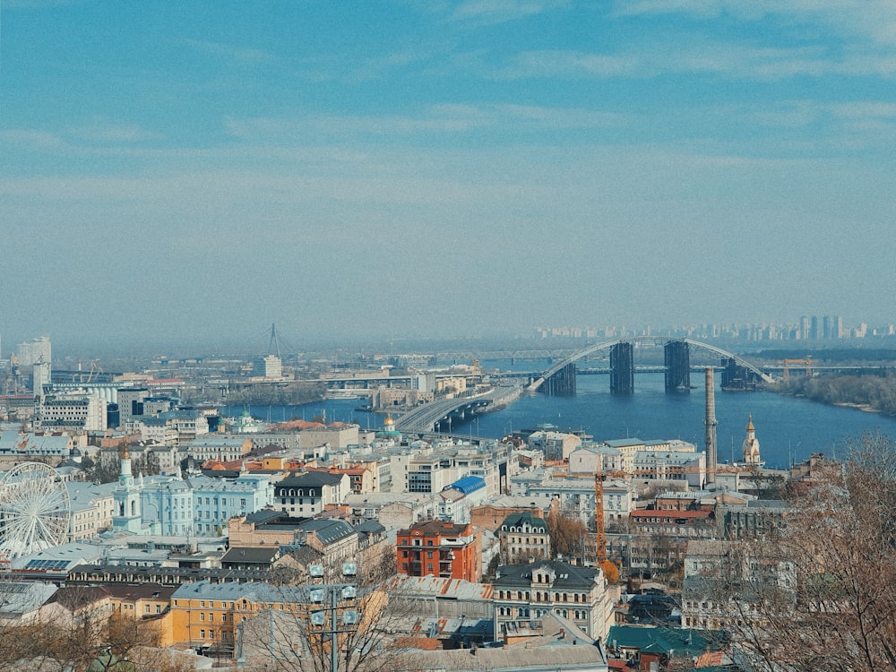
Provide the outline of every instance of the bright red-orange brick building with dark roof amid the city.
{"type": "Polygon", "coordinates": [[[478,583],[482,578],[482,540],[470,523],[426,521],[399,530],[398,572],[478,583]]]}

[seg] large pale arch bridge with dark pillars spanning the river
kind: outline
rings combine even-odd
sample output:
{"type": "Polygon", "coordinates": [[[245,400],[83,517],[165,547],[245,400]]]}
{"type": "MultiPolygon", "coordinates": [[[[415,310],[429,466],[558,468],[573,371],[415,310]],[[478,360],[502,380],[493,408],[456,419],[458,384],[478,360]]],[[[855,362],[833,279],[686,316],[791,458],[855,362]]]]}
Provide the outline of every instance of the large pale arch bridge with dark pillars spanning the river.
{"type": "Polygon", "coordinates": [[[575,362],[582,358],[598,352],[599,350],[610,350],[610,390],[619,394],[630,394],[633,392],[634,383],[634,366],[633,366],[633,344],[634,343],[652,343],[654,345],[662,345],[666,349],[666,390],[673,392],[676,390],[690,390],[690,347],[708,350],[722,358],[728,359],[731,367],[731,375],[739,375],[745,383],[749,383],[748,378],[752,374],[755,378],[762,380],[763,383],[772,383],[774,379],[758,366],[748,362],[745,358],[728,352],[721,348],[717,348],[709,343],[703,343],[700,340],[692,339],[672,339],[661,338],[657,336],[633,336],[629,338],[620,338],[614,340],[605,340],[600,343],[590,345],[564,358],[551,366],[537,379],[532,381],[527,390],[536,392],[543,388],[547,383],[547,392],[556,394],[570,394],[575,392],[575,362]],[[738,370],[739,369],[739,370],[738,370]],[[749,373],[747,373],[749,372],[749,373]]]}

